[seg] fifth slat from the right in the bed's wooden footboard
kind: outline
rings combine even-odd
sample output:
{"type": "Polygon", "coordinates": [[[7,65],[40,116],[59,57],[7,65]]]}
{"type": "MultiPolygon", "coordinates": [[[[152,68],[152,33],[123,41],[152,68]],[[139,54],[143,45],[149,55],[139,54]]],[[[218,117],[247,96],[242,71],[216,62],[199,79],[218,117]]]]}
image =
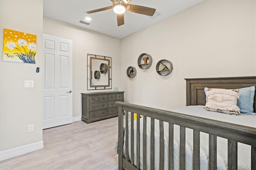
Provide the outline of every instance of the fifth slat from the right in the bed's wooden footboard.
{"type": "Polygon", "coordinates": [[[180,170],[185,169],[186,128],[180,127],[180,170]]]}

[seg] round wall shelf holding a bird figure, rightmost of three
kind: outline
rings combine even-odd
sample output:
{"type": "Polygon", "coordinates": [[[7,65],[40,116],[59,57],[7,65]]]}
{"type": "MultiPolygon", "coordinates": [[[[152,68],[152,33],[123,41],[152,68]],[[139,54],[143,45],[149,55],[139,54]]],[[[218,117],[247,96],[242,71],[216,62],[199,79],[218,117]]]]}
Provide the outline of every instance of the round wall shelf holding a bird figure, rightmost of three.
{"type": "Polygon", "coordinates": [[[172,70],[173,70],[172,62],[167,59],[161,59],[156,64],[156,72],[159,75],[163,75],[163,76],[169,75],[172,72],[172,70]]]}

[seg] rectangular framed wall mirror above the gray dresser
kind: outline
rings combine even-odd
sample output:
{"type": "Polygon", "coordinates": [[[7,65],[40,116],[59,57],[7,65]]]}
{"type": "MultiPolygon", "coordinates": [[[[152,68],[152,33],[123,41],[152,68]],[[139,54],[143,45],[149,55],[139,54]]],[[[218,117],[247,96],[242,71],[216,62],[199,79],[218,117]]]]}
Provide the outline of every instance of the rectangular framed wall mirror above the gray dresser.
{"type": "Polygon", "coordinates": [[[111,57],[87,54],[87,90],[112,89],[111,57]]]}

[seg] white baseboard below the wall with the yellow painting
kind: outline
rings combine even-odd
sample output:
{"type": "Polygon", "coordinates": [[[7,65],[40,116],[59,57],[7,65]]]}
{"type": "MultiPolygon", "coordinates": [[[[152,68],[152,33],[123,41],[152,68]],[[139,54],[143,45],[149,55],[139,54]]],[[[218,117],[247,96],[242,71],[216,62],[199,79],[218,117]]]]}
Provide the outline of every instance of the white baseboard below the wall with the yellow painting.
{"type": "Polygon", "coordinates": [[[16,148],[11,148],[8,150],[3,150],[3,151],[0,151],[0,161],[12,158],[14,156],[26,154],[28,152],[33,152],[35,150],[39,150],[42,148],[44,148],[44,142],[41,140],[39,142],[19,146],[16,148]]]}

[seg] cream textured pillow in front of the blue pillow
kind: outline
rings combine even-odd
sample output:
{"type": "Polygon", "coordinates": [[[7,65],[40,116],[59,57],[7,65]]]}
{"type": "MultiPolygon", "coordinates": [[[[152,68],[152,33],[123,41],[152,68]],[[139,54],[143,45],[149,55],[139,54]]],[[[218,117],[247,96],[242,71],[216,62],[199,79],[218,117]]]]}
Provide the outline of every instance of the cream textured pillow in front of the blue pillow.
{"type": "Polygon", "coordinates": [[[240,108],[237,106],[237,99],[240,98],[238,92],[238,89],[208,89],[206,110],[238,115],[240,113],[240,108]]]}

